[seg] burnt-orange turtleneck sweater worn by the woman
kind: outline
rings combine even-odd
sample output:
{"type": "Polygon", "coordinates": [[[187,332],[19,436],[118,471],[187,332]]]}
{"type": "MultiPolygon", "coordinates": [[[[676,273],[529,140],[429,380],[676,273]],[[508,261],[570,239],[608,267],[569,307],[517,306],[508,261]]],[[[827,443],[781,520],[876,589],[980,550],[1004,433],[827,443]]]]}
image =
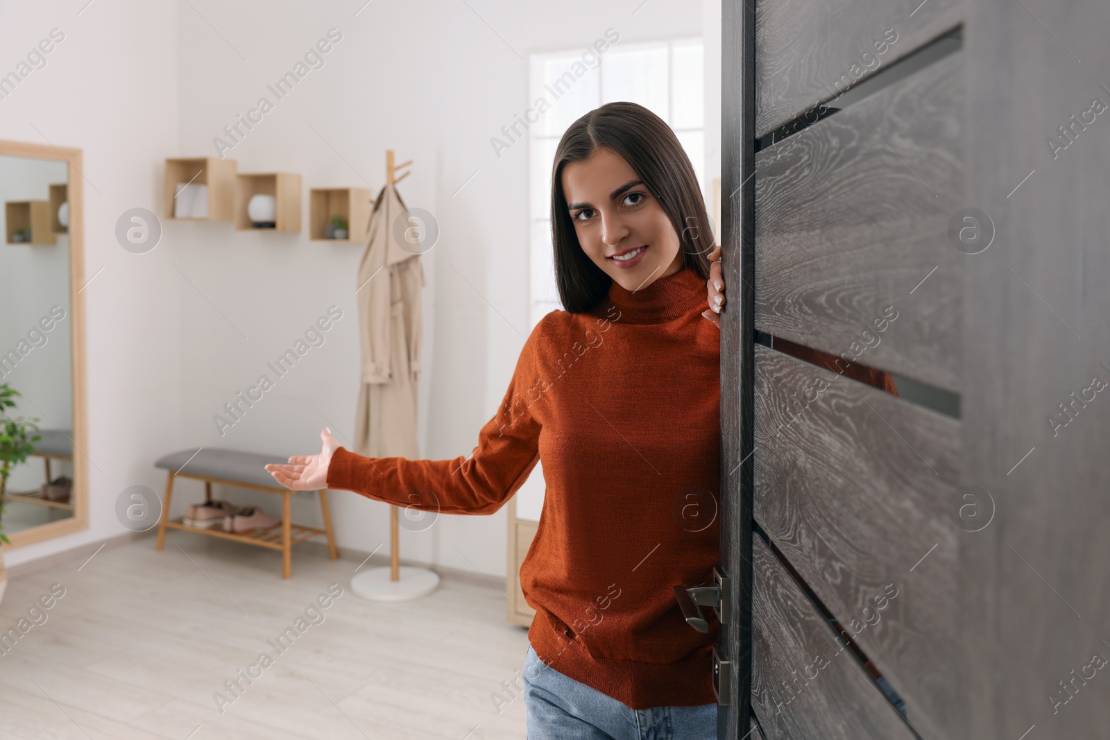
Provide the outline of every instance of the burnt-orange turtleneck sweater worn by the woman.
{"type": "MultiPolygon", "coordinates": [[[[589,313],[553,311],[524,343],[468,456],[369,458],[340,447],[327,487],[444,514],[493,514],[543,459],[521,587],[528,640],[555,670],[633,709],[715,701],[712,650],[673,586],[718,562],[720,331],[686,267],[589,313]]],[[[712,615],[712,611],[707,610],[712,615]]]]}

